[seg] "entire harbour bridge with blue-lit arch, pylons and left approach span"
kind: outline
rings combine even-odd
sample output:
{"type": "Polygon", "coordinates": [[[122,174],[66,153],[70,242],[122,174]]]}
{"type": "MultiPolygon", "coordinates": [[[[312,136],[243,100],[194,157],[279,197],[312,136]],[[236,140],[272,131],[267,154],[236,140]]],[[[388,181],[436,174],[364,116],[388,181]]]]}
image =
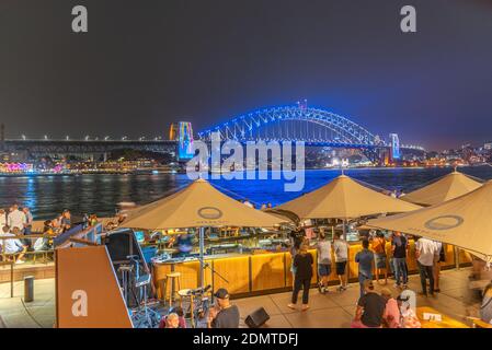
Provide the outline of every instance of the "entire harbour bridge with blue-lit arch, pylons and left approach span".
{"type": "Polygon", "coordinates": [[[90,139],[83,140],[5,140],[3,132],[0,151],[24,151],[31,155],[43,154],[106,154],[118,149],[135,149],[158,153],[175,154],[178,159],[191,158],[187,152],[194,140],[210,141],[213,135],[219,135],[221,141],[278,141],[299,142],[307,147],[330,147],[337,149],[358,149],[366,156],[375,160],[378,152],[389,150],[399,156],[400,150],[424,151],[420,147],[404,145],[396,133],[385,140],[365,127],[327,109],[308,107],[306,103],[293,106],[271,107],[230,118],[228,121],[201,130],[194,137],[190,122],[171,126],[168,140],[156,138],[138,140],[90,139]]]}

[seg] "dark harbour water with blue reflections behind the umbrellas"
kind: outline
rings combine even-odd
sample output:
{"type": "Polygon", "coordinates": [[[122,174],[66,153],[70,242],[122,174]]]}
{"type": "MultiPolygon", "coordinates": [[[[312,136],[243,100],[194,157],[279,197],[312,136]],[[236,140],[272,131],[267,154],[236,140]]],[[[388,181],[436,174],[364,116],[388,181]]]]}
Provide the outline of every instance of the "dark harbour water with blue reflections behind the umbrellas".
{"type": "MultiPolygon", "coordinates": [[[[449,167],[359,168],[346,170],[345,174],[380,188],[408,192],[451,171],[449,167]]],[[[459,171],[482,179],[492,179],[492,166],[461,167],[459,171]]],[[[300,192],[284,191],[284,180],[215,179],[211,183],[231,197],[276,206],[316,189],[340,174],[340,170],[306,171],[305,187],[300,192]]],[[[147,203],[190,182],[185,174],[0,177],[0,208],[8,208],[12,203],[27,206],[36,220],[53,218],[64,209],[73,213],[107,217],[114,214],[118,202],[147,203]]]]}

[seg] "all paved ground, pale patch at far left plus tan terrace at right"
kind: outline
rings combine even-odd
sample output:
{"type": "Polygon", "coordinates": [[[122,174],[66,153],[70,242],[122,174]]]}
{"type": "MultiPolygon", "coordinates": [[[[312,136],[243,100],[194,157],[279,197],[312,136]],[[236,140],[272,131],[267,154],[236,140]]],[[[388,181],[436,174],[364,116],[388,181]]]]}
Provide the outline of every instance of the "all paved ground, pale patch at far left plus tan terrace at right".
{"type": "MultiPolygon", "coordinates": [[[[443,314],[466,322],[466,316],[478,316],[479,302],[473,299],[469,289],[469,269],[448,270],[442,272],[440,290],[435,298],[417,298],[417,306],[432,306],[443,314]]],[[[392,288],[392,280],[388,287],[392,288]]],[[[380,290],[382,285],[377,285],[380,290]]],[[[419,291],[417,276],[410,278],[409,288],[419,291]]],[[[310,310],[293,311],[287,307],[290,292],[234,300],[240,308],[241,319],[255,308],[263,306],[271,315],[267,327],[294,328],[347,328],[355,312],[358,298],[358,284],[351,284],[348,290],[339,293],[320,294],[318,290],[310,291],[310,310]]],[[[0,326],[4,327],[53,327],[55,323],[55,280],[36,280],[34,284],[34,302],[23,303],[23,282],[15,282],[14,298],[10,298],[10,284],[0,284],[0,326]]],[[[300,296],[300,295],[299,295],[300,296]]],[[[300,298],[299,298],[300,299],[300,298]]],[[[300,300],[299,300],[300,304],[300,300]]],[[[244,326],[244,325],[242,325],[244,326]]]]}

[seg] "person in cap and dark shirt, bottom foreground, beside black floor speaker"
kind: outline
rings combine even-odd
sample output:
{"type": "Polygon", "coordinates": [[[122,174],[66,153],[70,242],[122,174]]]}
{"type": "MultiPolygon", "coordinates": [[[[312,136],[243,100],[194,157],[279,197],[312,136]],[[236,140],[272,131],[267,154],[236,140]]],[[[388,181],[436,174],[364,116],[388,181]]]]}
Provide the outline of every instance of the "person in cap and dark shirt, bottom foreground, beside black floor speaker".
{"type": "Polygon", "coordinates": [[[208,328],[239,328],[239,308],[230,303],[229,292],[220,288],[214,296],[217,299],[217,306],[210,307],[208,328]]]}

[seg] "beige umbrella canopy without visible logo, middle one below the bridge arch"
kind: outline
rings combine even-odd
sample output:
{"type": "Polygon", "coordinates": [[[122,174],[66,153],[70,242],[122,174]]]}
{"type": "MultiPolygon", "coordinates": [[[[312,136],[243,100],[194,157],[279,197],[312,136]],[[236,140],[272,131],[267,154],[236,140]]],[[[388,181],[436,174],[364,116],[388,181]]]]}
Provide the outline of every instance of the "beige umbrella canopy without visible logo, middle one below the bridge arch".
{"type": "Polygon", "coordinates": [[[341,175],[328,185],[275,209],[291,211],[301,219],[355,219],[419,208],[421,207],[382,195],[341,175]]]}

